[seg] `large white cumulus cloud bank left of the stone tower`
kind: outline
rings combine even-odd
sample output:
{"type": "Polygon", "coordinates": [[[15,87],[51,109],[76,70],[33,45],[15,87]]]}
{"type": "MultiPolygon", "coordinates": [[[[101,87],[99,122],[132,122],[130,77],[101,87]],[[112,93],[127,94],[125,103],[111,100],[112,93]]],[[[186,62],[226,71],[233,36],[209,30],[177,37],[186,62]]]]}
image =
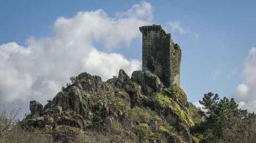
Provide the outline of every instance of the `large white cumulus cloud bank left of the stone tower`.
{"type": "Polygon", "coordinates": [[[151,24],[151,5],[135,4],[110,18],[103,10],[78,12],[74,18],[54,22],[55,35],[30,37],[27,46],[15,42],[0,45],[0,99],[20,103],[28,110],[29,100],[41,103],[65,86],[69,77],[81,72],[97,74],[103,80],[124,69],[140,69],[140,61],[110,51],[127,46],[141,36],[138,27],[151,24]],[[109,53],[100,51],[101,43],[109,53]]]}

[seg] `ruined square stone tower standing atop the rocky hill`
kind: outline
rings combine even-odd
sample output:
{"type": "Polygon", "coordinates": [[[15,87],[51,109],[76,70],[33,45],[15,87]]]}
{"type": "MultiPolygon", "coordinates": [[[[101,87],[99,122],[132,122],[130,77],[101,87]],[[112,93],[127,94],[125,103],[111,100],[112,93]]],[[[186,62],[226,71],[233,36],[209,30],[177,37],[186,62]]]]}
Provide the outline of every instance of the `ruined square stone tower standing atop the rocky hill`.
{"type": "Polygon", "coordinates": [[[161,26],[140,27],[142,32],[142,68],[155,73],[165,87],[180,84],[181,49],[161,26]]]}

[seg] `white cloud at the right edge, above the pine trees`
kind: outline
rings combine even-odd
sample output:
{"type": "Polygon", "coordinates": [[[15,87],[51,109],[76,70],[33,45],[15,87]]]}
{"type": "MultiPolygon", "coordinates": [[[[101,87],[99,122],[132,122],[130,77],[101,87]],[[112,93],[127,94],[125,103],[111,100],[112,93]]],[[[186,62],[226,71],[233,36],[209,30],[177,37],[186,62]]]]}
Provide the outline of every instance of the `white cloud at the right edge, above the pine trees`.
{"type": "Polygon", "coordinates": [[[235,90],[239,107],[256,111],[256,47],[251,48],[244,62],[243,83],[235,90]]]}

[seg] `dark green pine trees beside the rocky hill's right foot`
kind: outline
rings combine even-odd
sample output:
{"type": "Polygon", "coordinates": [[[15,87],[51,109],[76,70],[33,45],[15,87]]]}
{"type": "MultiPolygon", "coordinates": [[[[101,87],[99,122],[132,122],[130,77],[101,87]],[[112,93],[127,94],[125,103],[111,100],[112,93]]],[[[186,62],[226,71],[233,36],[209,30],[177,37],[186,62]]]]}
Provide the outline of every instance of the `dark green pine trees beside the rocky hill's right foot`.
{"type": "Polygon", "coordinates": [[[204,137],[200,142],[251,142],[248,138],[256,136],[255,129],[248,130],[256,125],[254,113],[239,109],[234,98],[220,99],[209,92],[199,103],[204,106],[205,121],[196,123],[190,131],[204,137]]]}

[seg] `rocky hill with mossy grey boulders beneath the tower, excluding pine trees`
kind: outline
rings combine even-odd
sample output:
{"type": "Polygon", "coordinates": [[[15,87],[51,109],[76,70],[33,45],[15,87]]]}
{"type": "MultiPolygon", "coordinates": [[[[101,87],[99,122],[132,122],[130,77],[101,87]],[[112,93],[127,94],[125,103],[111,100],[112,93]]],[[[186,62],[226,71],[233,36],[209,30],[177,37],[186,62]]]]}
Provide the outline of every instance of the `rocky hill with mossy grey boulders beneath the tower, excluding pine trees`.
{"type": "Polygon", "coordinates": [[[42,131],[47,142],[198,142],[191,136],[185,92],[164,87],[156,74],[123,70],[106,82],[81,73],[45,106],[30,101],[21,121],[27,131],[42,131]]]}

